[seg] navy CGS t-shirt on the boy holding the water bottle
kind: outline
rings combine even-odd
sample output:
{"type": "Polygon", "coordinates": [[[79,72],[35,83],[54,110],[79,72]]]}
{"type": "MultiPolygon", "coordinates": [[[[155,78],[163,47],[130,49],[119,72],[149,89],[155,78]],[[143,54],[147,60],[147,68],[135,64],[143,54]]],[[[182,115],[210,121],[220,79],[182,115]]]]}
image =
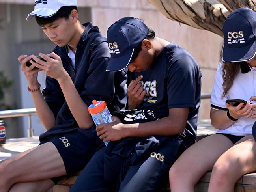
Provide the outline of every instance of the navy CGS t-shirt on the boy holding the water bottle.
{"type": "Polygon", "coordinates": [[[146,71],[130,73],[130,79],[140,75],[147,93],[137,109],[154,111],[156,117],[163,118],[169,115],[170,108],[189,107],[183,136],[195,140],[202,73],[191,54],[170,43],[146,71]]]}

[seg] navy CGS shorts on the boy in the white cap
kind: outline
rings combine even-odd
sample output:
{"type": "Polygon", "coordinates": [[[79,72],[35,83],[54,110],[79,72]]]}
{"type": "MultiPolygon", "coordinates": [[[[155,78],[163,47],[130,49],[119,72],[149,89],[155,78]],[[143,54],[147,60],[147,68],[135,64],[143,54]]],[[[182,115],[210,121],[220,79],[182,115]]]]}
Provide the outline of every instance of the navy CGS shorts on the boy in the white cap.
{"type": "MultiPolygon", "coordinates": [[[[44,138],[39,144],[52,142],[55,145],[63,159],[67,177],[82,170],[90,161],[99,145],[103,144],[96,135],[96,132],[90,132],[90,137],[88,137],[83,133],[84,131],[80,132],[78,130],[79,128],[76,131],[67,132],[63,135],[56,135],[54,138],[44,138]],[[92,134],[95,134],[95,137],[92,137],[92,134]]],[[[62,176],[51,179],[56,184],[61,178],[62,176]]]]}

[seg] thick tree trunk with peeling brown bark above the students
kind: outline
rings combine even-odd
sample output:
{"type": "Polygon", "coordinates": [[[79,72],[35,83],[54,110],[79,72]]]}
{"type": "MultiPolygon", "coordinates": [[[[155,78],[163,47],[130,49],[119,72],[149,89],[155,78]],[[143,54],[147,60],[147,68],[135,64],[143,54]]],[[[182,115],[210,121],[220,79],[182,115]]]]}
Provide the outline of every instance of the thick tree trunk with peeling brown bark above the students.
{"type": "Polygon", "coordinates": [[[148,0],[163,15],[189,26],[223,36],[222,26],[230,12],[253,8],[256,0],[148,0]]]}

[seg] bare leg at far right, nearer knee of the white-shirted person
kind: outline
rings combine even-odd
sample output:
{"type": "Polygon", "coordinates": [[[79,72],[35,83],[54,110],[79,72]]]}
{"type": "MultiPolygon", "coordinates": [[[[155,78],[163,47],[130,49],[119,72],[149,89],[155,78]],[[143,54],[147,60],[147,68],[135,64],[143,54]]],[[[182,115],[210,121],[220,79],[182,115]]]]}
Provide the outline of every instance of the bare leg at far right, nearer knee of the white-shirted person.
{"type": "Polygon", "coordinates": [[[209,192],[234,192],[237,180],[256,170],[256,143],[248,135],[235,143],[213,166],[209,192]]]}

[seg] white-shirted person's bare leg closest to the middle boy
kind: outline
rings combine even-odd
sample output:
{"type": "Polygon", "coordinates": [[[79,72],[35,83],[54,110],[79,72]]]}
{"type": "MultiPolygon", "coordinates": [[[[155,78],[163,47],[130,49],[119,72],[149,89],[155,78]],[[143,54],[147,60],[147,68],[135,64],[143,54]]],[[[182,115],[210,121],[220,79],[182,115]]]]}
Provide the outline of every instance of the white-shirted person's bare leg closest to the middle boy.
{"type": "Polygon", "coordinates": [[[226,136],[214,134],[189,147],[170,168],[171,191],[194,192],[194,185],[232,145],[226,136]]]}

